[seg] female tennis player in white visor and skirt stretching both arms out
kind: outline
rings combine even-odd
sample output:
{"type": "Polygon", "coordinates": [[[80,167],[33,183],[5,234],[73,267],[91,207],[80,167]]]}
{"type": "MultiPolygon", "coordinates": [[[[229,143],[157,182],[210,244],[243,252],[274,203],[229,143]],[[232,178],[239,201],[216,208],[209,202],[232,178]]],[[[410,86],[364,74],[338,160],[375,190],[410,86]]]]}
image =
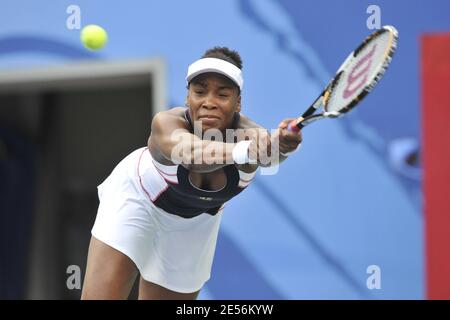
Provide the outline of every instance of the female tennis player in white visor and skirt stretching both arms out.
{"type": "Polygon", "coordinates": [[[241,69],[236,51],[206,51],[188,68],[186,108],[155,115],[148,146],[98,186],[82,299],[127,299],[138,274],[139,299],[197,298],[225,203],[302,140],[286,130],[294,118],[269,134],[240,114],[241,69]]]}

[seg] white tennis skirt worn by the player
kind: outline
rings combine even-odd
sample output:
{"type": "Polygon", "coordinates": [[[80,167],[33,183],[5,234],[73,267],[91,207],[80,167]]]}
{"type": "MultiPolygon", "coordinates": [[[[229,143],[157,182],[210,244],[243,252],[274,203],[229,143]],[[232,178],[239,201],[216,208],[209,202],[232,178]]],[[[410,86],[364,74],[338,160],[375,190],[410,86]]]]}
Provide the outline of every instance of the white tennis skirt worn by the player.
{"type": "Polygon", "coordinates": [[[176,292],[198,291],[210,278],[222,210],[187,219],[156,207],[142,179],[147,186],[163,179],[145,149],[129,154],[98,186],[92,235],[128,256],[144,280],[176,292]]]}

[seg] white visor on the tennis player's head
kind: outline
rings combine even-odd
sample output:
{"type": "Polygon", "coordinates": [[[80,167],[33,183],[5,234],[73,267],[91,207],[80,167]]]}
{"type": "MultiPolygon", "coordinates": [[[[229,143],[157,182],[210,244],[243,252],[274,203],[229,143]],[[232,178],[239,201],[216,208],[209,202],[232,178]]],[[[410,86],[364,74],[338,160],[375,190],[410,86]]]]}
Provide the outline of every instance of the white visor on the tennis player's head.
{"type": "Polygon", "coordinates": [[[230,78],[242,91],[244,79],[242,78],[241,69],[222,59],[203,58],[195,61],[188,68],[186,81],[189,83],[189,81],[191,81],[194,77],[206,72],[223,74],[227,78],[230,78]]]}

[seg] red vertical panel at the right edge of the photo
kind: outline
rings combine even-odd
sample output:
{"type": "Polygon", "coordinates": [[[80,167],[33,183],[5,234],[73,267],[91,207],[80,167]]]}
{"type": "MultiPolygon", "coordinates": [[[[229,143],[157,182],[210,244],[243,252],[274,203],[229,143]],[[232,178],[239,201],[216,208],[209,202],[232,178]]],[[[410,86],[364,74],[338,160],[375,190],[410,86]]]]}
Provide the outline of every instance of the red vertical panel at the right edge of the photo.
{"type": "Polygon", "coordinates": [[[450,297],[450,33],[422,38],[428,297],[450,297]]]}

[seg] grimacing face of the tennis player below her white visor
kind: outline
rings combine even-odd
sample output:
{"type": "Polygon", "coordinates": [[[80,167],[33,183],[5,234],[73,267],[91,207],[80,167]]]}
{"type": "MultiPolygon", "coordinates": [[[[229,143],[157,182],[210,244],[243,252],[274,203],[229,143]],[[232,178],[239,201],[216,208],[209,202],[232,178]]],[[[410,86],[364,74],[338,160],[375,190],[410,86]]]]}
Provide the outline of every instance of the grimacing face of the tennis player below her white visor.
{"type": "Polygon", "coordinates": [[[238,87],[217,73],[195,77],[189,84],[187,102],[192,120],[202,122],[203,132],[230,128],[234,113],[241,110],[238,87]]]}

